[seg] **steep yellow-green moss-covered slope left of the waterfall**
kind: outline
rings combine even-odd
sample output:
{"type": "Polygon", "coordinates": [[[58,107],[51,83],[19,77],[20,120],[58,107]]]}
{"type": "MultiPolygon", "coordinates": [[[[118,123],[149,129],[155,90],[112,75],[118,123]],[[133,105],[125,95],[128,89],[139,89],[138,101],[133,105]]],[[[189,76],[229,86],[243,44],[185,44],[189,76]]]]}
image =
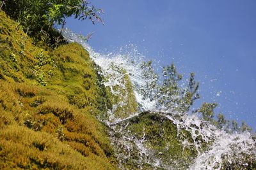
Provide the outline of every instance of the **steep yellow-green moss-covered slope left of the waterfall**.
{"type": "Polygon", "coordinates": [[[33,44],[0,11],[0,169],[115,169],[110,107],[88,52],[33,44]]]}

